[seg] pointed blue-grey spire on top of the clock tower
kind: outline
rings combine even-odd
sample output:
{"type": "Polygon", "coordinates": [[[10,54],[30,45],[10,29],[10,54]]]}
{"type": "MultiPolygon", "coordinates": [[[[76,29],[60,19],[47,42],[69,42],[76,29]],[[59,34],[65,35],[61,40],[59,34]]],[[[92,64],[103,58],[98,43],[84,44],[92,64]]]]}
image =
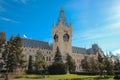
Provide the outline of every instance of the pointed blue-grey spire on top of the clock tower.
{"type": "Polygon", "coordinates": [[[60,9],[60,14],[59,14],[59,17],[58,17],[57,25],[60,22],[63,24],[63,26],[68,26],[67,19],[66,19],[65,14],[64,14],[64,8],[63,7],[61,7],[61,9],[60,9]]]}

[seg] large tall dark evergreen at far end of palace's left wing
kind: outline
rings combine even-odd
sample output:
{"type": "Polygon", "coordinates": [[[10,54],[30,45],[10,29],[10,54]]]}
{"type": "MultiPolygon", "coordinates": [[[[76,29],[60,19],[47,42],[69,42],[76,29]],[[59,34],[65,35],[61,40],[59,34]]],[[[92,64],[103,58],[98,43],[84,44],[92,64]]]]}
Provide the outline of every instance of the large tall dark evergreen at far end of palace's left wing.
{"type": "Polygon", "coordinates": [[[9,72],[14,72],[18,68],[22,68],[24,66],[22,42],[19,35],[10,38],[5,46],[5,52],[3,56],[9,72]]]}

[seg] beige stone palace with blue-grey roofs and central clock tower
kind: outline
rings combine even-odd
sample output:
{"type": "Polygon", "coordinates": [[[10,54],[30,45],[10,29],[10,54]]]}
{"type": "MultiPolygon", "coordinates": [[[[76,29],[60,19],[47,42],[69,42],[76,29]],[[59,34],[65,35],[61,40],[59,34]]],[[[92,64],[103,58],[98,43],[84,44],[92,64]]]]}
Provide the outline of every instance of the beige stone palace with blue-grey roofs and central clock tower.
{"type": "Polygon", "coordinates": [[[54,61],[57,47],[60,49],[64,62],[66,61],[66,54],[72,56],[76,62],[76,71],[78,72],[82,71],[81,60],[84,56],[97,58],[98,53],[100,53],[101,56],[104,56],[103,51],[97,44],[93,44],[89,49],[72,46],[72,31],[72,24],[68,24],[64,10],[61,9],[57,25],[52,27],[52,45],[49,45],[48,42],[44,41],[22,38],[23,54],[25,54],[27,64],[29,56],[31,55],[34,58],[36,51],[40,50],[45,57],[45,61],[48,65],[51,65],[54,61]]]}

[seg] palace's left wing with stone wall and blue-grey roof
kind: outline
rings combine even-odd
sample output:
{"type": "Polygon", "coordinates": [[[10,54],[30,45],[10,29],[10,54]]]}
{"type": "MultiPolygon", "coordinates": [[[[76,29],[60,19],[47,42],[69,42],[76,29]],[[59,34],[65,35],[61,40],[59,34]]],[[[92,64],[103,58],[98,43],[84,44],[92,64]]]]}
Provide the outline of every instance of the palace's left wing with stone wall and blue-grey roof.
{"type": "Polygon", "coordinates": [[[23,54],[25,55],[24,58],[27,61],[27,65],[29,56],[33,56],[34,60],[34,56],[37,50],[40,50],[42,52],[43,56],[45,57],[45,61],[48,63],[48,65],[52,64],[54,55],[52,53],[52,46],[50,46],[48,42],[22,38],[22,45],[23,54]]]}

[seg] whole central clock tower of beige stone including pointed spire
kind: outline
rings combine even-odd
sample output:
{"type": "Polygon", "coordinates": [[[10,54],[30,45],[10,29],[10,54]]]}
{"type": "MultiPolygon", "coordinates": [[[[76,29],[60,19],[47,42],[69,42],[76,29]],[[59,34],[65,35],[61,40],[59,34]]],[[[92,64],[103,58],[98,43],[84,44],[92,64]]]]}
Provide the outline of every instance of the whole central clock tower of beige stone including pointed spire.
{"type": "Polygon", "coordinates": [[[53,53],[59,48],[63,58],[68,53],[72,53],[72,24],[68,25],[64,14],[64,9],[61,8],[56,26],[52,28],[53,38],[53,53]]]}

